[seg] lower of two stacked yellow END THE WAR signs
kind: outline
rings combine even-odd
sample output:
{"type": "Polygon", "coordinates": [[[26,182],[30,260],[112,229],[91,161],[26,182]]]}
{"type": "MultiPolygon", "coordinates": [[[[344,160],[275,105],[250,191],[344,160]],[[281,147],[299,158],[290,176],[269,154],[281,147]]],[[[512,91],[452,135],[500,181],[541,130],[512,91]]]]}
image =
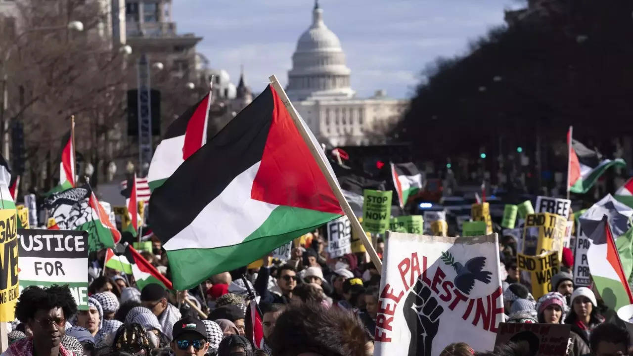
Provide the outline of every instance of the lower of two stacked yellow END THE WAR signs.
{"type": "Polygon", "coordinates": [[[556,251],[544,252],[537,256],[517,253],[517,267],[519,270],[530,272],[532,295],[538,299],[552,290],[551,279],[560,272],[560,260],[556,251]]]}

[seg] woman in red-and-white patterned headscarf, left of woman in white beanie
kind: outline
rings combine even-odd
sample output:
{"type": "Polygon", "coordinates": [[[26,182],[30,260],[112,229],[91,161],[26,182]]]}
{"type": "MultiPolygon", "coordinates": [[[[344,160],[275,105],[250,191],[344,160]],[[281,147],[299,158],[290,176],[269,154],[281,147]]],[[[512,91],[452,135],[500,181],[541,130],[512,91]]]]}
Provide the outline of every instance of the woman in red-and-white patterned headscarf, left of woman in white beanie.
{"type": "MultiPolygon", "coordinates": [[[[563,324],[568,312],[565,296],[558,292],[549,292],[539,298],[536,304],[538,320],[542,324],[563,324]]],[[[569,338],[572,340],[573,355],[586,355],[591,353],[587,344],[579,334],[570,331],[569,338]]]]}

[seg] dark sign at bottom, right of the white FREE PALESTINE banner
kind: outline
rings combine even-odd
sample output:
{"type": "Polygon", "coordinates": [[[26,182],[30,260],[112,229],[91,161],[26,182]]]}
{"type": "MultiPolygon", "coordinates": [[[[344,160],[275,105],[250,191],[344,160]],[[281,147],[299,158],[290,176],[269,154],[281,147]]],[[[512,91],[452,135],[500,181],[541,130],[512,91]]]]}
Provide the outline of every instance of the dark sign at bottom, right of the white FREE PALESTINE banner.
{"type": "Polygon", "coordinates": [[[520,324],[502,322],[494,346],[509,342],[521,343],[529,348],[528,355],[565,356],[571,326],[567,324],[520,324]]]}

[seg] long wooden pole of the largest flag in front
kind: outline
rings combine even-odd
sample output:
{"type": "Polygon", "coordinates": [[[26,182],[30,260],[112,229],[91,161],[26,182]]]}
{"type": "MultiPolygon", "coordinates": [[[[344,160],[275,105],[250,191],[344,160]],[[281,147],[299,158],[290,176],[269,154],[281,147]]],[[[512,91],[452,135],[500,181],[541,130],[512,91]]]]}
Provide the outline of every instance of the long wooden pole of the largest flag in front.
{"type": "Polygon", "coordinates": [[[365,234],[365,231],[363,230],[363,226],[361,226],[360,222],[358,222],[358,219],[356,219],[356,215],[354,215],[354,212],[352,208],[349,206],[348,201],[345,199],[345,196],[343,196],[343,192],[341,191],[341,188],[339,187],[339,184],[336,181],[336,177],[334,177],[330,173],[330,170],[327,168],[328,163],[325,162],[325,159],[320,153],[322,149],[320,148],[320,146],[318,146],[318,144],[315,144],[312,141],[310,134],[308,133],[308,129],[304,126],[303,121],[299,117],[299,113],[295,110],[294,106],[290,102],[290,99],[288,99],[288,96],[285,94],[284,88],[279,84],[277,77],[275,77],[275,75],[271,75],[270,77],[268,77],[268,79],[270,80],[271,85],[277,92],[277,95],[279,95],[279,98],[284,102],[285,108],[290,113],[290,116],[292,117],[292,121],[294,121],[294,125],[299,130],[299,134],[301,134],[301,137],[303,137],[303,141],[306,143],[306,145],[310,149],[310,153],[312,153],[312,157],[315,159],[316,164],[318,164],[318,167],[321,168],[321,172],[323,172],[323,175],[325,175],[325,179],[327,180],[327,183],[330,185],[330,188],[334,192],[334,195],[336,196],[337,200],[339,200],[339,203],[341,204],[341,208],[343,209],[343,212],[345,212],[345,215],[348,215],[348,219],[349,219],[349,222],[351,223],[352,230],[356,232],[356,234],[358,234],[358,236],[360,237],[360,240],[363,242],[363,246],[365,246],[367,253],[369,253],[369,258],[372,260],[373,265],[376,266],[377,270],[382,272],[382,261],[380,261],[380,257],[378,257],[378,253],[376,253],[376,250],[373,248],[372,241],[370,241],[367,238],[367,234],[365,234]]]}

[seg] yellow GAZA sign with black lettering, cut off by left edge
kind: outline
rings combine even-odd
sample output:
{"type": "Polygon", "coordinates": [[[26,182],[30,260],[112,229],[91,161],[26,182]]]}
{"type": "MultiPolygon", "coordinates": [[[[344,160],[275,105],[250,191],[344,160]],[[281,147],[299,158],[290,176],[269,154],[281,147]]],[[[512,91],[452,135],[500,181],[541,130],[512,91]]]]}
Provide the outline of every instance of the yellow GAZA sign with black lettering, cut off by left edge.
{"type": "Polygon", "coordinates": [[[15,321],[15,303],[20,292],[16,220],[15,209],[0,210],[0,322],[15,321]]]}

